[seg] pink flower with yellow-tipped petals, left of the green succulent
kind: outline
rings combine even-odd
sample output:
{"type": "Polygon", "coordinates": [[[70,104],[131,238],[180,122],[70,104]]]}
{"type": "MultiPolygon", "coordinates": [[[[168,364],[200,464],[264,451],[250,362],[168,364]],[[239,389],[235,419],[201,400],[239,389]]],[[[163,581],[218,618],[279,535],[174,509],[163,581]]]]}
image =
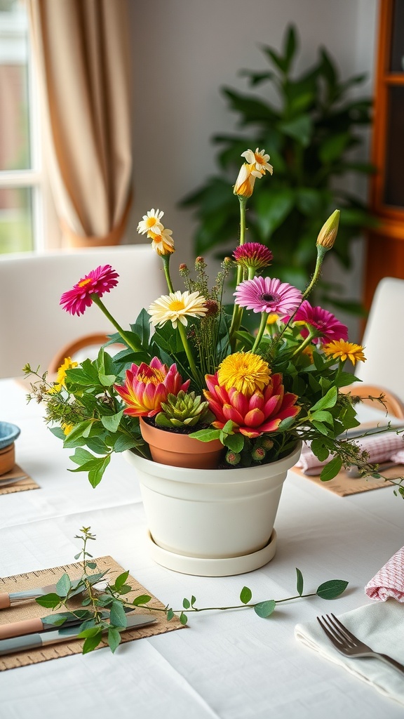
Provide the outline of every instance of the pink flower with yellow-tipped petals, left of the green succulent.
{"type": "Polygon", "coordinates": [[[177,365],[163,365],[153,357],[150,365],[132,365],[125,373],[124,385],[115,385],[116,392],[127,404],[124,414],[132,417],[152,417],[161,410],[161,403],[169,394],[188,390],[190,380],[183,381],[177,365]]]}

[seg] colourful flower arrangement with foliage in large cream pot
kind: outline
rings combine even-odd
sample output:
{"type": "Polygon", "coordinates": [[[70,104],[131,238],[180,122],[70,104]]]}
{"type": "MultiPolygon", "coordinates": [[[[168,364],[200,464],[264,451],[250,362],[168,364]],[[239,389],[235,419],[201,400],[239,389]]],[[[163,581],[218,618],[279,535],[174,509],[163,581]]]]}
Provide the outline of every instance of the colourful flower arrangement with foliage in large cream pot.
{"type": "MultiPolygon", "coordinates": [[[[114,357],[102,348],[80,365],[66,358],[53,382],[34,372],[30,395],[45,400],[46,421],[57,425],[52,431],[75,449],[73,471],[87,472],[93,487],[111,454],[127,452],[137,468],[155,558],[196,574],[245,572],[271,559],[277,503],[301,441],[311,442],[318,459],[331,454],[324,480],[343,465],[366,464],[366,454],[343,434],[359,424],[352,397],[338,392],[354,381],[344,371],[346,360],[364,361],[363,348],[348,342],[346,326],[333,314],[307,300],[334,244],[339,211],[318,234],[316,267],[303,293],[262,275],[272,252],[246,242],[245,213],[254,185],[272,167],[264,150],[242,155],[234,185],[239,245],[213,288],[203,257],[197,257],[195,277],[180,265],[185,291],[174,290],[172,232],[162,225],[162,212],[150,210],[138,231],[161,256],[169,293],[126,330],[101,299],[118,275],[109,265],[92,270],[60,303],[77,315],[96,304],[117,331],[110,342],[125,348],[114,357]],[[232,271],[235,300],[228,309],[221,299],[232,271]],[[247,310],[250,321],[257,319],[252,331],[244,324],[247,310]],[[213,442],[219,457],[207,470],[155,462],[144,424],[169,436],[172,445],[184,434],[198,446],[213,442]]],[[[26,372],[32,373],[29,365],[26,372]]]]}

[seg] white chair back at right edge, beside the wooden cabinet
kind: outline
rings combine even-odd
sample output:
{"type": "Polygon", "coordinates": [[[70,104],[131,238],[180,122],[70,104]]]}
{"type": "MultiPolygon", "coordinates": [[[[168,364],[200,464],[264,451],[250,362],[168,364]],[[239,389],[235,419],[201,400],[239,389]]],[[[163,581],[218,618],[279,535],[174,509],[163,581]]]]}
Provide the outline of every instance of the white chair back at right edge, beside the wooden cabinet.
{"type": "MultiPolygon", "coordinates": [[[[404,402],[404,280],[383,278],[377,285],[362,344],[366,362],[355,375],[367,385],[388,390],[404,402]]],[[[352,385],[352,393],[358,385],[352,385]]]]}

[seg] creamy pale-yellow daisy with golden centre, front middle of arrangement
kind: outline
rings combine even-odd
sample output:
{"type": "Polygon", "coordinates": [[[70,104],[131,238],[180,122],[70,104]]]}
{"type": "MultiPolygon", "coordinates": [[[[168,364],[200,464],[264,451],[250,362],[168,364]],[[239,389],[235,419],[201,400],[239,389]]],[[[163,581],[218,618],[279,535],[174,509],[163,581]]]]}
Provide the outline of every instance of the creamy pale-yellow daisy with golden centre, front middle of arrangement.
{"type": "Polygon", "coordinates": [[[155,302],[152,302],[147,310],[150,314],[150,322],[154,326],[162,326],[167,321],[173,323],[174,329],[178,322],[187,326],[187,317],[203,317],[208,308],[206,299],[198,292],[170,292],[169,295],[162,295],[155,302]]]}

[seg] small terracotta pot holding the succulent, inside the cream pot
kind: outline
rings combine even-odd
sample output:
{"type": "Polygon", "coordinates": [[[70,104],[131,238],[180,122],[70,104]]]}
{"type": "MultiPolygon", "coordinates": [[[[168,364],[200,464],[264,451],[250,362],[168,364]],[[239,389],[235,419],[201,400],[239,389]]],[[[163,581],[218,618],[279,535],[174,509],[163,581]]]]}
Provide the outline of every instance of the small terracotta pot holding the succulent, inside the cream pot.
{"type": "Polygon", "coordinates": [[[192,470],[216,470],[224,451],[219,439],[201,442],[189,434],[170,432],[147,424],[140,418],[140,431],[150,447],[154,462],[192,470]]]}

